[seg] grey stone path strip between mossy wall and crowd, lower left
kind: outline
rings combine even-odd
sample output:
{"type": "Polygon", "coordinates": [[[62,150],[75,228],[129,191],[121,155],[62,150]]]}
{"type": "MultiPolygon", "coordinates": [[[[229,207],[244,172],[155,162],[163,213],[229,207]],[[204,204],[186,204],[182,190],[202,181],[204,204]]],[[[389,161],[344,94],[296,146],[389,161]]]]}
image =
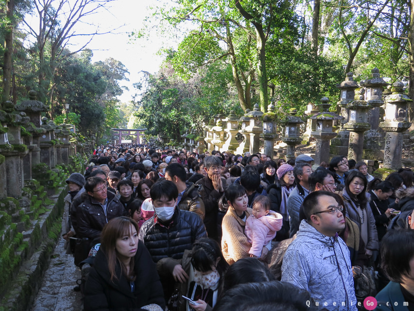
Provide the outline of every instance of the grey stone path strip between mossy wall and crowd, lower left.
{"type": "Polygon", "coordinates": [[[81,271],[73,263],[73,256],[66,255],[65,241],[57,243],[42,287],[33,302],[31,311],[82,311],[80,292],[75,292],[76,280],[81,271]]]}

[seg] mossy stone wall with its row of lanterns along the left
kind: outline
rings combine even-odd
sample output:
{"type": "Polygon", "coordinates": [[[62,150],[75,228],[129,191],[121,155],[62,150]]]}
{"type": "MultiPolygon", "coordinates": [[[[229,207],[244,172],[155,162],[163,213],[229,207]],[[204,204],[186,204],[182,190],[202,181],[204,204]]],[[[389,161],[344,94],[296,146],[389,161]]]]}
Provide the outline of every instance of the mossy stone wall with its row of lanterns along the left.
{"type": "Polygon", "coordinates": [[[65,180],[92,146],[30,95],[0,110],[0,311],[30,306],[60,237],[65,180]]]}

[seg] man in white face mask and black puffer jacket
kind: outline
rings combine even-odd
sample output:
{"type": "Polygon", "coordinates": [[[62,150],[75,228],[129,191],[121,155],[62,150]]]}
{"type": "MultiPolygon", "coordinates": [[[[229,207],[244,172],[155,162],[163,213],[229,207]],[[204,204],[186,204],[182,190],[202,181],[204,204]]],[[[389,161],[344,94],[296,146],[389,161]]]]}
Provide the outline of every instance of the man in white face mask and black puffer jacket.
{"type": "MultiPolygon", "coordinates": [[[[196,240],[207,236],[205,226],[196,213],[176,208],[178,190],[173,182],[160,180],[149,192],[155,215],[139,230],[139,239],[144,242],[154,262],[160,259],[182,259],[185,250],[191,250],[196,240]]],[[[168,299],[174,290],[175,282],[188,279],[181,264],[175,260],[166,260],[168,267],[157,270],[168,299]],[[168,274],[160,273],[168,271],[168,274]]]]}

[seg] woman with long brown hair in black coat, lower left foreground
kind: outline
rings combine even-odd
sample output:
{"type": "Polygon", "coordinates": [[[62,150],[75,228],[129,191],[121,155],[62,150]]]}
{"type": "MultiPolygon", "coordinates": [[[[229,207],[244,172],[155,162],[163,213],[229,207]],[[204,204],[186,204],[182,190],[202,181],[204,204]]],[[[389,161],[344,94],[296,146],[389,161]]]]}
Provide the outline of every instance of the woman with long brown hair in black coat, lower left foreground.
{"type": "Polygon", "coordinates": [[[85,284],[84,311],[165,310],[155,263],[138,240],[138,225],[128,217],[112,219],[85,284]],[[146,310],[147,310],[146,309],[146,310]]]}

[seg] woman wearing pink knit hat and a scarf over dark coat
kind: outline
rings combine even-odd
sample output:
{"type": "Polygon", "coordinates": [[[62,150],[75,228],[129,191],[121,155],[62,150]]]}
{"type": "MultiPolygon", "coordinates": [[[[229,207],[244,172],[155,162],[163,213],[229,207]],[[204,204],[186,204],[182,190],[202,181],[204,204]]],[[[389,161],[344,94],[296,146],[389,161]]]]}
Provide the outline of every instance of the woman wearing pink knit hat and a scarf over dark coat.
{"type": "Polygon", "coordinates": [[[289,212],[287,210],[287,198],[290,192],[295,188],[295,176],[293,175],[293,166],[282,164],[276,171],[279,182],[267,187],[267,197],[270,200],[270,208],[283,216],[282,229],[276,235],[277,241],[289,238],[289,212]]]}

